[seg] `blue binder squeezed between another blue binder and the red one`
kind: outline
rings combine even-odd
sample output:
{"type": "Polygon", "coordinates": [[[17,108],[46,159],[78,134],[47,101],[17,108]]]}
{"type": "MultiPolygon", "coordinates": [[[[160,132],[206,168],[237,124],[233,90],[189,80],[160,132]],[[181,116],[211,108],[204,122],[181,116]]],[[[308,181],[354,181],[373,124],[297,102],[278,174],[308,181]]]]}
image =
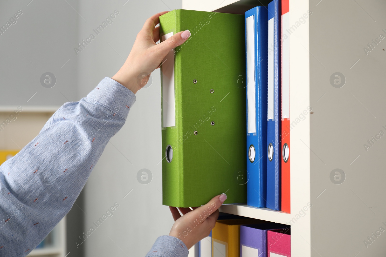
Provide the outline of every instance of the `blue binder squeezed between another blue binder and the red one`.
{"type": "Polygon", "coordinates": [[[281,210],[281,1],[268,4],[267,208],[281,210]]]}

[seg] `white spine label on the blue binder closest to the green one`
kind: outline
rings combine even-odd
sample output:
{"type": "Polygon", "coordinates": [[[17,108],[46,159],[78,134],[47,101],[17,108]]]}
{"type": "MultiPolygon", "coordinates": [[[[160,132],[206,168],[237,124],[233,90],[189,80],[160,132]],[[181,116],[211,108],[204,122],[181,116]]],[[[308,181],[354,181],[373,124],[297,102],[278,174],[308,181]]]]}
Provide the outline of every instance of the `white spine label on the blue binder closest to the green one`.
{"type": "Polygon", "coordinates": [[[246,19],[247,37],[247,100],[248,133],[256,133],[256,78],[255,78],[255,31],[254,16],[246,19]]]}

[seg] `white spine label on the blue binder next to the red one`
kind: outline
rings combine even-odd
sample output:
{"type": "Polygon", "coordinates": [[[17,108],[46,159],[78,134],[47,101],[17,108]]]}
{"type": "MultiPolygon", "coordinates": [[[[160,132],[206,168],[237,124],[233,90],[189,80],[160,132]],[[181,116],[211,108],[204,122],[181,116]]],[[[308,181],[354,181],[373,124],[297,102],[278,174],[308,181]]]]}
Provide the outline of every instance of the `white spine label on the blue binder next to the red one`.
{"type": "Polygon", "coordinates": [[[275,94],[274,94],[274,43],[273,43],[273,34],[274,34],[274,27],[273,27],[274,18],[271,18],[271,20],[268,20],[268,121],[273,120],[274,121],[274,101],[275,101],[275,94]]]}

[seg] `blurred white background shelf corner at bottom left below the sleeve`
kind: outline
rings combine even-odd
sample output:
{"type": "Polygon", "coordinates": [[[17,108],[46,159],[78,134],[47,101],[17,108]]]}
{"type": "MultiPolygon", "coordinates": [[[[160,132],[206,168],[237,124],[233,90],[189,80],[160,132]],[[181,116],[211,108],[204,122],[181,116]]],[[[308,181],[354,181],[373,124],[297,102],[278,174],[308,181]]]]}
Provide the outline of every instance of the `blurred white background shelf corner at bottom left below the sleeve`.
{"type": "Polygon", "coordinates": [[[36,248],[28,256],[33,257],[65,257],[66,253],[66,217],[51,231],[52,244],[36,248]]]}

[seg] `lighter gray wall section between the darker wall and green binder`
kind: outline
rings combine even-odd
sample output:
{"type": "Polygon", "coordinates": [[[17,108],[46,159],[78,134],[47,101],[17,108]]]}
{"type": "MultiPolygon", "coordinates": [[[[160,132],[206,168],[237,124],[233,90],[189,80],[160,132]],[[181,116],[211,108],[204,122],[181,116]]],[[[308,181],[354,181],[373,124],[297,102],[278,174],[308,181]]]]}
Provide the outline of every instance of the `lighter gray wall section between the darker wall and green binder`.
{"type": "MultiPolygon", "coordinates": [[[[125,2],[82,0],[79,4],[79,13],[87,21],[79,20],[80,40],[93,33],[92,30],[114,10],[119,11],[113,23],[78,56],[74,53],[79,60],[79,96],[85,96],[103,77],[111,77],[118,71],[148,17],[181,8],[179,0],[125,2]]],[[[107,144],[86,183],[85,232],[90,226],[95,227],[93,222],[115,202],[119,203],[113,216],[86,239],[83,246],[87,257],[144,256],[157,237],[169,234],[173,224],[169,208],[161,204],[159,70],[152,73],[152,78],[152,85],[136,94],[137,101],[130,110],[127,123],[107,144]],[[153,175],[147,185],[140,184],[136,178],[142,168],[149,169],[153,175]]]]}

